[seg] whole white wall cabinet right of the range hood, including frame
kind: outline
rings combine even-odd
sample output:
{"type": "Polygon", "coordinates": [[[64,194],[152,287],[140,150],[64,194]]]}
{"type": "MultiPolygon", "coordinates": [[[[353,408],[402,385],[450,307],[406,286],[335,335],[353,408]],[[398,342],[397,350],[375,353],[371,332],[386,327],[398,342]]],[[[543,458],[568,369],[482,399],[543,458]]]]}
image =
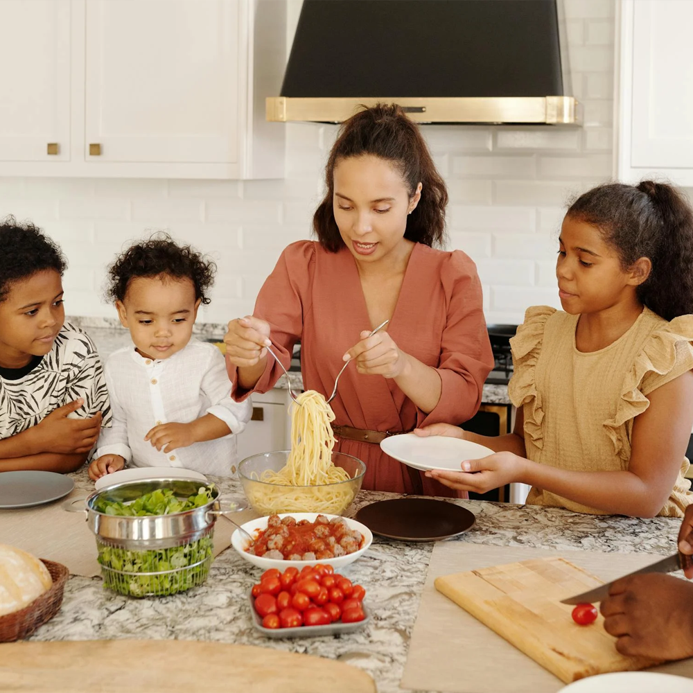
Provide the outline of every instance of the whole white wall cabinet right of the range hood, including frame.
{"type": "Polygon", "coordinates": [[[693,2],[620,7],[619,178],[693,186],[693,2]]]}

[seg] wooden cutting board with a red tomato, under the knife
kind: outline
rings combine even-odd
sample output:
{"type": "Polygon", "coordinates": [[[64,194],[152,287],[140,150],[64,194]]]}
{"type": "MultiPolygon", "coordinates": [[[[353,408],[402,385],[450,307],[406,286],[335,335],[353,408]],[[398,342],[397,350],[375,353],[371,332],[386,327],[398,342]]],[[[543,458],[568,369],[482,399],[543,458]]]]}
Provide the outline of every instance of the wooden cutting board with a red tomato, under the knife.
{"type": "Polygon", "coordinates": [[[571,617],[565,597],[603,581],[559,557],[495,565],[435,579],[435,588],[564,683],[656,664],[626,657],[604,631],[602,615],[588,626],[571,617]]]}

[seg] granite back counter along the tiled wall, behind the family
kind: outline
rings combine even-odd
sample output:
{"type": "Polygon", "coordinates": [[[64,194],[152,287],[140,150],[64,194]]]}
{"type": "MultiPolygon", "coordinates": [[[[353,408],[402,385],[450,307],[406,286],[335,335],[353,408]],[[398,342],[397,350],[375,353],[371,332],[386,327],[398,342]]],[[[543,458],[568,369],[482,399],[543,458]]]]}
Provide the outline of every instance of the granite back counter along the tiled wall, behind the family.
{"type": "MultiPolygon", "coordinates": [[[[83,318],[83,317],[68,317],[67,321],[76,327],[81,327],[87,333],[101,356],[102,360],[106,360],[108,356],[128,344],[131,344],[130,333],[123,328],[116,318],[83,318]]],[[[195,324],[193,334],[201,339],[213,339],[221,337],[225,331],[224,325],[213,323],[195,324]]],[[[295,391],[303,389],[303,378],[300,373],[289,373],[291,388],[295,391]]],[[[286,389],[286,376],[281,376],[274,385],[279,389],[286,389]]],[[[482,394],[482,403],[484,404],[499,404],[509,405],[507,385],[484,385],[482,394]]]]}

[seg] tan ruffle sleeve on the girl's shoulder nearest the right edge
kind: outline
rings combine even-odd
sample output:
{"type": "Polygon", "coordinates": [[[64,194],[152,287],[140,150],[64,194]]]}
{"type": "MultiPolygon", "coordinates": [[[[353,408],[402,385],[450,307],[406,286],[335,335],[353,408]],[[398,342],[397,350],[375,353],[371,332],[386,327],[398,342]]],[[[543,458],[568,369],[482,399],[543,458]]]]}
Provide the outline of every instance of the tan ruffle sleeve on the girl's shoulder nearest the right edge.
{"type": "MultiPolygon", "coordinates": [[[[646,309],[647,310],[647,309],[646,309]]],[[[675,317],[649,336],[623,379],[613,419],[604,428],[621,459],[630,457],[624,424],[649,407],[647,395],[693,369],[693,315],[675,317]]]]}

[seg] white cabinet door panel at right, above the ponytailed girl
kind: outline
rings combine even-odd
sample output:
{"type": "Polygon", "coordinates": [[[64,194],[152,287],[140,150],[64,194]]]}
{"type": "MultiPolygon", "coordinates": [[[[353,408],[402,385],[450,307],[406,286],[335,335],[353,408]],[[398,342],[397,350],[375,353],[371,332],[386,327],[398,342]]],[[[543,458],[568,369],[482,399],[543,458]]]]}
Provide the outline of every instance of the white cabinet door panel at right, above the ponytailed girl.
{"type": "Polygon", "coordinates": [[[631,166],[693,170],[693,2],[638,0],[632,12],[631,166]]]}

